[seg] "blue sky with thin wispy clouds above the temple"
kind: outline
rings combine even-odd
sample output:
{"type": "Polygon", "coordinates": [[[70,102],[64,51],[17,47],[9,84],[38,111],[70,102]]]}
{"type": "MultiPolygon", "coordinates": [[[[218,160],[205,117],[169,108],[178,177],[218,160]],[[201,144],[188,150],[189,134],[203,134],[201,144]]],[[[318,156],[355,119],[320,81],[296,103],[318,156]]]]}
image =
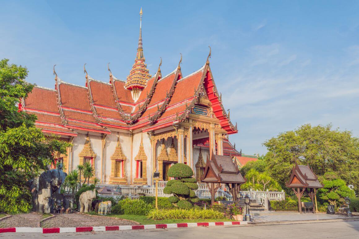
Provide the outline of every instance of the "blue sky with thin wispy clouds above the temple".
{"type": "Polygon", "coordinates": [[[304,123],[359,136],[358,1],[0,1],[0,58],[27,66],[27,80],[54,87],[89,75],[126,79],[143,7],[143,47],[152,74],[210,66],[245,154],[304,123]]]}

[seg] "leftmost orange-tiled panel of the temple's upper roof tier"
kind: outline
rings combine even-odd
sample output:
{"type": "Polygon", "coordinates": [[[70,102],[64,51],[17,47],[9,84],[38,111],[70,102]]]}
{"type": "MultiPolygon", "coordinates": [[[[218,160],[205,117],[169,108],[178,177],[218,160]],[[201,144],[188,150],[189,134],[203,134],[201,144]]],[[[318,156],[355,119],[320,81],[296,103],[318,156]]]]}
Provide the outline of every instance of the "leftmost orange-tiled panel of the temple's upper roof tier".
{"type": "Polygon", "coordinates": [[[59,112],[57,107],[56,91],[34,87],[32,92],[24,99],[26,108],[39,109],[42,111],[59,112]]]}

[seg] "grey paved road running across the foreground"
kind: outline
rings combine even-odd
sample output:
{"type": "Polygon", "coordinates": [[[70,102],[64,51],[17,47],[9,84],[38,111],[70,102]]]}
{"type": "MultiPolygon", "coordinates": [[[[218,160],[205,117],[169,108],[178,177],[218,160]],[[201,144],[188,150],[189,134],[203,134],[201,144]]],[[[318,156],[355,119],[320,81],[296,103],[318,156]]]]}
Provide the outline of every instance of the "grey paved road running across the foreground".
{"type": "Polygon", "coordinates": [[[96,233],[4,233],[0,238],[359,238],[359,221],[322,222],[310,224],[262,225],[262,226],[213,226],[197,228],[173,228],[168,230],[131,230],[96,233]]]}

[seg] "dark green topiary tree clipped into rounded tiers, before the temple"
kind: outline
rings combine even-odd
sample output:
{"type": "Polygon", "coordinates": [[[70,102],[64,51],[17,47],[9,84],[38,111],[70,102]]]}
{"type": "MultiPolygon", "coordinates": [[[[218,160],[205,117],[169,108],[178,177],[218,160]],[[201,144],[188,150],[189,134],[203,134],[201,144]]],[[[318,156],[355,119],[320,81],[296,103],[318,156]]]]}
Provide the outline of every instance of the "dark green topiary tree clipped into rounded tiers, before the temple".
{"type": "Polygon", "coordinates": [[[166,187],[163,189],[165,194],[173,193],[174,196],[170,197],[171,199],[169,200],[172,203],[177,203],[177,205],[178,203],[186,205],[186,208],[192,207],[192,204],[188,200],[196,198],[196,194],[193,190],[198,189],[196,179],[192,178],[192,169],[186,164],[178,163],[169,168],[168,176],[176,178],[168,181],[166,187]],[[187,202],[190,203],[191,206],[189,206],[187,202]]]}

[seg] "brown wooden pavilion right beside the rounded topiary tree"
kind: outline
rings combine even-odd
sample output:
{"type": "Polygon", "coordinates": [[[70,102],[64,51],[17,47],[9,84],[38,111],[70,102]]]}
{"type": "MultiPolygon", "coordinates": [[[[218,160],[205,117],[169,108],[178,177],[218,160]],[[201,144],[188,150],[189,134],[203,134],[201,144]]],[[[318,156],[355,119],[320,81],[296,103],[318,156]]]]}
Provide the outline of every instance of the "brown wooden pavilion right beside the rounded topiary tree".
{"type": "Polygon", "coordinates": [[[236,161],[233,162],[232,156],[215,155],[212,152],[210,159],[207,157],[201,182],[207,183],[211,193],[211,203],[214,203],[215,194],[221,183],[228,185],[235,202],[237,194],[241,190],[241,184],[246,180],[239,172],[236,161]]]}

